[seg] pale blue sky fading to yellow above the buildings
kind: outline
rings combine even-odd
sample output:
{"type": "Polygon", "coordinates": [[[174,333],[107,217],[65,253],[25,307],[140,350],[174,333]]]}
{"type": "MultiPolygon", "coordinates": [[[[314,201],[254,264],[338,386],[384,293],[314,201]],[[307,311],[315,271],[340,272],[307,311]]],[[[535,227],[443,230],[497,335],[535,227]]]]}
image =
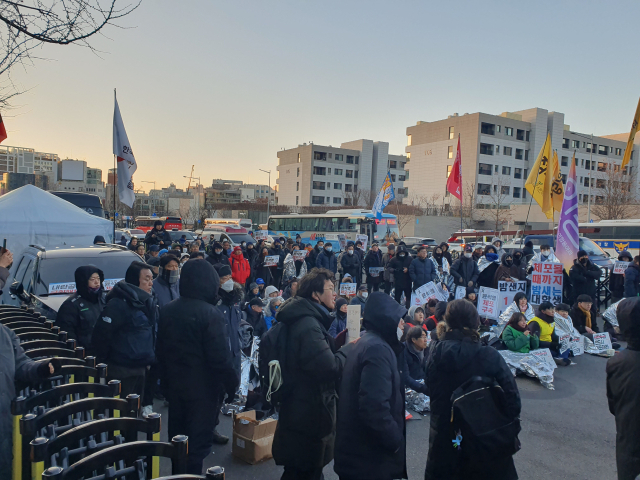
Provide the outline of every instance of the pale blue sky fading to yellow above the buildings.
{"type": "MultiPolygon", "coordinates": [[[[127,5],[129,0],[118,0],[127,5]]],[[[113,90],[136,186],[271,183],[277,152],[454,112],[540,107],[571,129],[628,132],[640,96],[640,2],[142,0],[91,41],[47,45],[13,80],[3,145],[112,167],[113,90]]]]}

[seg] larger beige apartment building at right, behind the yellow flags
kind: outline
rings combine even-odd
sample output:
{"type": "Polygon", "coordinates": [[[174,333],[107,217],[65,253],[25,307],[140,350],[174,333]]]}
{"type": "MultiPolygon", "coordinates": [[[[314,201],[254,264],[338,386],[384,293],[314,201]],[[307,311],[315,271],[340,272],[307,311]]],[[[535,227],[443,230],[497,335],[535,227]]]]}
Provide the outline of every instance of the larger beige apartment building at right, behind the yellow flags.
{"type": "MultiPolygon", "coordinates": [[[[542,148],[547,132],[557,151],[566,183],[575,152],[578,199],[597,202],[603,187],[601,178],[610,165],[619,169],[628,134],[591,136],[574,132],[565,115],[532,108],[501,115],[453,114],[434,122],[418,122],[407,128],[405,203],[430,201],[458,205],[446,191],[446,180],[455,160],[458,136],[462,153],[465,196],[475,193],[479,208],[528,204],[524,183],[542,148]],[[409,175],[410,174],[410,175],[409,175]]],[[[638,146],[634,147],[636,150],[638,146]]],[[[628,173],[637,172],[638,153],[633,152],[628,173]]],[[[637,185],[636,185],[637,189],[637,185]]],[[[518,223],[516,221],[516,223],[518,223]]]]}

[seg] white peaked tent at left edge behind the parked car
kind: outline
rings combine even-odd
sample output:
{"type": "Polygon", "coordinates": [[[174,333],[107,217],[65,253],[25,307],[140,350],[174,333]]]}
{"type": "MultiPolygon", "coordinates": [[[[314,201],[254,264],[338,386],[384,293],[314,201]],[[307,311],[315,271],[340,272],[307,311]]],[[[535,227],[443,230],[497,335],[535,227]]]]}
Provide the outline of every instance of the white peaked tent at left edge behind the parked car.
{"type": "Polygon", "coordinates": [[[14,255],[29,245],[92,245],[96,235],[112,243],[113,223],[33,185],[0,197],[0,242],[14,255]]]}

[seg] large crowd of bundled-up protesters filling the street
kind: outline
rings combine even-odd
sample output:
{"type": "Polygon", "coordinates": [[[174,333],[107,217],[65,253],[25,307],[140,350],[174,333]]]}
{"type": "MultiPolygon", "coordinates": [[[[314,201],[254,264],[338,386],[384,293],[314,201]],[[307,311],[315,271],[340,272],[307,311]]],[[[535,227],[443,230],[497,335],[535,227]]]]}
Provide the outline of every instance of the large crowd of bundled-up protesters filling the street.
{"type": "MultiPolygon", "coordinates": [[[[487,462],[452,448],[457,438],[450,425],[452,396],[470,379],[486,377],[501,387],[503,416],[519,422],[514,377],[497,350],[480,341],[486,319],[478,315],[476,295],[479,287],[498,281],[525,280],[532,260],[557,262],[549,246],[542,245],[538,254],[532,245],[506,253],[496,237],[486,247],[467,245],[456,260],[446,243],[431,255],[424,246],[411,252],[402,242],[386,245],[383,254],[377,242],[366,251],[362,242],[348,242],[341,250],[338,242],[311,246],[299,236],[232,247],[217,241],[205,245],[200,235],[192,243],[172,242],[158,221],[144,241],[133,238],[127,247],[140,261],[109,292],[100,269],[76,270],[77,292],[60,307],[57,324],[109,365],[108,379],[121,381],[122,397],[141,395],[143,414],[152,411],[154,397],[168,401],[169,438],[188,435],[190,473],[202,472],[213,443],[229,440],[217,430],[218,416],[223,403],[237,398],[242,336],[248,331],[265,345],[284,342],[276,358],[286,388],[272,405],[279,414],[273,456],[284,466],[283,479],[321,479],[332,460],[343,480],[407,478],[405,388],[431,399],[425,479],[517,478],[515,450],[494,452],[487,462]],[[306,253],[294,254],[301,250],[306,253]],[[429,282],[451,292],[447,301],[412,304],[413,292],[429,282]],[[356,284],[355,294],[339,295],[344,283],[356,284]],[[453,300],[457,286],[464,287],[465,297],[453,300]],[[339,347],[336,337],[347,330],[349,305],[360,307],[360,336],[339,347]]],[[[632,263],[622,278],[612,278],[612,292],[633,298],[620,304],[625,306],[621,331],[612,327],[611,332],[624,335],[635,351],[640,349],[633,320],[640,311],[640,257],[623,253],[632,263]]],[[[0,257],[0,280],[6,260],[0,257]]],[[[556,363],[569,364],[568,351],[559,350],[554,314],[570,316],[576,329],[593,339],[600,275],[580,251],[568,275],[568,304],[543,302],[534,308],[518,293],[502,331],[505,348],[520,353],[549,348],[556,363]]],[[[15,339],[4,330],[6,349],[17,355],[12,376],[54,372],[55,361],[34,370],[20,349],[10,347],[15,339]]],[[[633,351],[608,367],[609,405],[619,435],[632,431],[625,422],[635,427],[640,422],[629,409],[624,373],[640,368],[633,351]]],[[[267,385],[260,388],[264,397],[267,385]]],[[[633,395],[635,401],[637,392],[633,395]]],[[[269,405],[268,396],[263,401],[269,405]]],[[[618,468],[636,475],[638,456],[621,447],[638,448],[631,436],[619,436],[618,468]]],[[[464,448],[464,439],[458,441],[464,448]]]]}

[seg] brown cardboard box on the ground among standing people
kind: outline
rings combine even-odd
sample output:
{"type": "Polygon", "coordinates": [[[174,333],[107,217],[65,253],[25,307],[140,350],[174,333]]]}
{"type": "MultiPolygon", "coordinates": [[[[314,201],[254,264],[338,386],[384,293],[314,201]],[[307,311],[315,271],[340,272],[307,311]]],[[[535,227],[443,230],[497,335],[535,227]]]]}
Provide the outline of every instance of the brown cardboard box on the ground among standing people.
{"type": "Polygon", "coordinates": [[[231,453],[251,465],[272,458],[271,445],[277,420],[256,420],[256,411],[233,416],[233,444],[231,453]]]}

